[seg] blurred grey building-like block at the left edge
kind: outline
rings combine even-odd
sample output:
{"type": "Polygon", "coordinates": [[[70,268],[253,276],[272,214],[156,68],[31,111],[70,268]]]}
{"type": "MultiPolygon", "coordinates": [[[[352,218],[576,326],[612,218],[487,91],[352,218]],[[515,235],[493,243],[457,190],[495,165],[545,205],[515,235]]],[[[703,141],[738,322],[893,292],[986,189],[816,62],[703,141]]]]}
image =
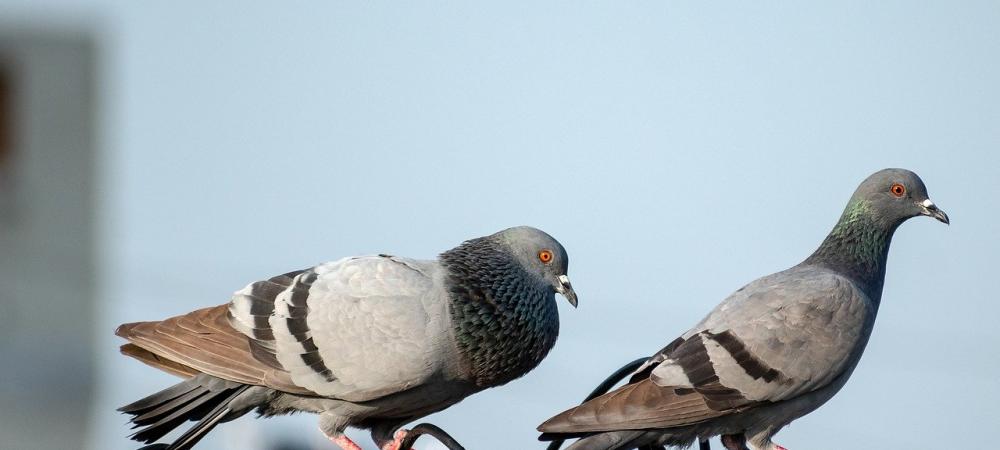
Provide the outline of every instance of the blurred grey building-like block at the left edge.
{"type": "Polygon", "coordinates": [[[0,448],[80,448],[94,382],[95,46],[0,22],[0,448]],[[5,26],[6,25],[6,26],[5,26]]]}

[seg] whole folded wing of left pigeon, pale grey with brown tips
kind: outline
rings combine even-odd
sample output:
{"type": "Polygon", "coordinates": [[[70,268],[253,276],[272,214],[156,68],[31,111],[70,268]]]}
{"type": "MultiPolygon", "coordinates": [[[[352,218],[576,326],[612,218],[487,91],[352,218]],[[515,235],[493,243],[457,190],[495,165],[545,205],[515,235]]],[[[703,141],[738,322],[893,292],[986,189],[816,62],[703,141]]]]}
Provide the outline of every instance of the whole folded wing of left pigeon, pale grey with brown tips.
{"type": "Polygon", "coordinates": [[[119,335],[170,360],[164,370],[174,373],[191,368],[285,392],[371,400],[440,369],[447,306],[437,267],[345,258],[252,283],[228,305],[123,325],[119,335]]]}

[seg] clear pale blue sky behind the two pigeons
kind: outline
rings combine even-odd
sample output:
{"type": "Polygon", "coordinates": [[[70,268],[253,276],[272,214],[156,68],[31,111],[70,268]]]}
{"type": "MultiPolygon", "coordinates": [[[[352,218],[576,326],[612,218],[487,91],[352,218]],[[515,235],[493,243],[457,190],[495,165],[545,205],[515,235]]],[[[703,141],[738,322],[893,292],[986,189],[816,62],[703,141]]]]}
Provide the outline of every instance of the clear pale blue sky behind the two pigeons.
{"type": "MultiPolygon", "coordinates": [[[[521,224],[566,246],[580,308],[533,373],[429,419],[470,449],[541,448],[538,423],[799,262],[883,167],[920,174],[953,225],[898,231],[853,379],[776,441],[995,440],[996,2],[0,5],[100,44],[90,448],[134,448],[113,408],[172,381],[117,354],[118,323],[521,224]]],[[[205,448],[280,432],[331,448],[313,416],[242,419],[205,448]]]]}

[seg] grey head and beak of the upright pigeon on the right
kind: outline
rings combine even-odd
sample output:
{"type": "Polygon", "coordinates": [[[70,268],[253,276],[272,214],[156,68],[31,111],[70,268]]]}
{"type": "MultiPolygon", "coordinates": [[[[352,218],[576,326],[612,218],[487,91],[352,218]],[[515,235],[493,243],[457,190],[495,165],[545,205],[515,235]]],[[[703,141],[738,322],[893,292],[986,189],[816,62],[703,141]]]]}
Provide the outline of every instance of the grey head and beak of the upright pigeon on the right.
{"type": "Polygon", "coordinates": [[[949,223],[948,215],[928,198],[924,182],[906,169],[883,169],[869,176],[854,192],[848,208],[867,210],[889,228],[916,216],[949,223]]]}

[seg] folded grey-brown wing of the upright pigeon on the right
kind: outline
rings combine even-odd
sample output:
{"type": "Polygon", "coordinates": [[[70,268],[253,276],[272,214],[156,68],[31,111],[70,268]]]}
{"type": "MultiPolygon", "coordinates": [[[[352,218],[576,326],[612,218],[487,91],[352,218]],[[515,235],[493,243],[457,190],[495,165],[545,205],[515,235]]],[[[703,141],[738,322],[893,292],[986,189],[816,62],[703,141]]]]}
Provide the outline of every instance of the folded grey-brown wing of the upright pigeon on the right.
{"type": "Polygon", "coordinates": [[[871,332],[850,280],[793,268],[754,281],[654,355],[632,382],[543,423],[547,433],[692,425],[826,386],[871,332]]]}

